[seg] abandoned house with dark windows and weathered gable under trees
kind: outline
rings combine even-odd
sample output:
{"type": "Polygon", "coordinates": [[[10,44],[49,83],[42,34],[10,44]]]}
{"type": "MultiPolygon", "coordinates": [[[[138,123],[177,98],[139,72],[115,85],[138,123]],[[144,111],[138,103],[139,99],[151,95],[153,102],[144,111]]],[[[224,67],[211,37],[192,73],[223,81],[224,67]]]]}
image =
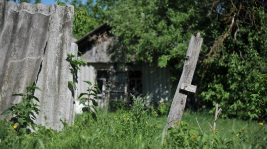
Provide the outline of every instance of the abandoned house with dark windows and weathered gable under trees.
{"type": "Polygon", "coordinates": [[[110,56],[114,40],[110,31],[104,23],[76,41],[80,58],[88,63],[78,75],[78,94],[86,92],[85,80],[98,84],[99,106],[107,106],[110,99],[124,99],[127,93],[149,94],[153,102],[172,98],[169,68],[115,62],[110,56]]]}

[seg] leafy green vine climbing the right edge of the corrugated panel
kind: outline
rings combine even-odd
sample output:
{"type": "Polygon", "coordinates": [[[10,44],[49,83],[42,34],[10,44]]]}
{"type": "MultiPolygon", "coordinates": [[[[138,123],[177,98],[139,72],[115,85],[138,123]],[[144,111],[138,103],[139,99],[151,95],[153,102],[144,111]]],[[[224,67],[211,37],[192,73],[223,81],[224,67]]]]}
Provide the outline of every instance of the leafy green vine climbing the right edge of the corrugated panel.
{"type": "Polygon", "coordinates": [[[68,54],[67,53],[67,61],[70,63],[71,65],[71,68],[70,68],[70,73],[72,74],[72,82],[71,81],[68,81],[68,85],[71,85],[72,87],[76,87],[75,83],[78,82],[78,77],[77,77],[77,71],[81,70],[79,65],[86,65],[87,62],[83,61],[83,60],[77,60],[77,59],[74,59],[73,58],[75,57],[75,55],[73,55],[72,53],[68,54]]]}

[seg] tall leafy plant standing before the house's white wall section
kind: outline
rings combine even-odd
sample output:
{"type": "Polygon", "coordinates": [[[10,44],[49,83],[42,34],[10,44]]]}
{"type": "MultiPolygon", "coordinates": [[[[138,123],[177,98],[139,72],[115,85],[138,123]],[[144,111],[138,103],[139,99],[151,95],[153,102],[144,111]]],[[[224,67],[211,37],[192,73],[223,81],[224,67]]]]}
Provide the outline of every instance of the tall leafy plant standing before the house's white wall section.
{"type": "Polygon", "coordinates": [[[83,114],[86,115],[87,120],[89,121],[89,116],[91,115],[94,121],[97,121],[97,116],[95,112],[97,112],[97,102],[95,99],[91,98],[91,96],[98,98],[97,91],[100,92],[100,89],[98,88],[97,84],[92,85],[89,81],[83,81],[89,85],[87,89],[87,93],[81,93],[78,97],[80,100],[80,104],[84,104],[85,107],[83,107],[83,114]],[[92,105],[90,105],[90,102],[92,102],[92,105]],[[87,104],[87,105],[86,105],[87,104]]]}

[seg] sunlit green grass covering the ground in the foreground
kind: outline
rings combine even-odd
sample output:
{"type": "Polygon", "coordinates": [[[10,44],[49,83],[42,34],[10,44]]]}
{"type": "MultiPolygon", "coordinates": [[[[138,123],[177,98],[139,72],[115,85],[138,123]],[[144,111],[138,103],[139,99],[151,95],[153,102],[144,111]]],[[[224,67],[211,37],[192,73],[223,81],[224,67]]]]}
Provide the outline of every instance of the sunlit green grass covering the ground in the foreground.
{"type": "Polygon", "coordinates": [[[97,122],[76,115],[74,125],[63,131],[40,128],[37,133],[21,136],[1,120],[0,149],[267,149],[265,122],[261,126],[256,121],[219,118],[216,140],[207,124],[213,124],[212,115],[184,112],[182,121],[189,126],[180,126],[178,132],[173,130],[166,137],[166,115],[148,111],[140,119],[135,116],[132,111],[100,110],[97,122]]]}

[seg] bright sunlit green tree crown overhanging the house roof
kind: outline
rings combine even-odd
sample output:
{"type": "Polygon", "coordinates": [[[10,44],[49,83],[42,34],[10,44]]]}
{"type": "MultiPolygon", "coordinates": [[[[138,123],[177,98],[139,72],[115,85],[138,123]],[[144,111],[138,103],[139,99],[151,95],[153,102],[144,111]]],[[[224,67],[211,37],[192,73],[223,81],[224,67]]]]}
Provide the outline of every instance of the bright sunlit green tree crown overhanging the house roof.
{"type": "Polygon", "coordinates": [[[135,63],[159,66],[184,57],[192,35],[185,32],[195,11],[191,5],[183,1],[119,0],[109,12],[113,19],[109,22],[112,33],[120,37],[115,48],[117,54],[113,54],[127,62],[134,55],[135,63]],[[186,12],[187,8],[190,12],[186,12]]]}

